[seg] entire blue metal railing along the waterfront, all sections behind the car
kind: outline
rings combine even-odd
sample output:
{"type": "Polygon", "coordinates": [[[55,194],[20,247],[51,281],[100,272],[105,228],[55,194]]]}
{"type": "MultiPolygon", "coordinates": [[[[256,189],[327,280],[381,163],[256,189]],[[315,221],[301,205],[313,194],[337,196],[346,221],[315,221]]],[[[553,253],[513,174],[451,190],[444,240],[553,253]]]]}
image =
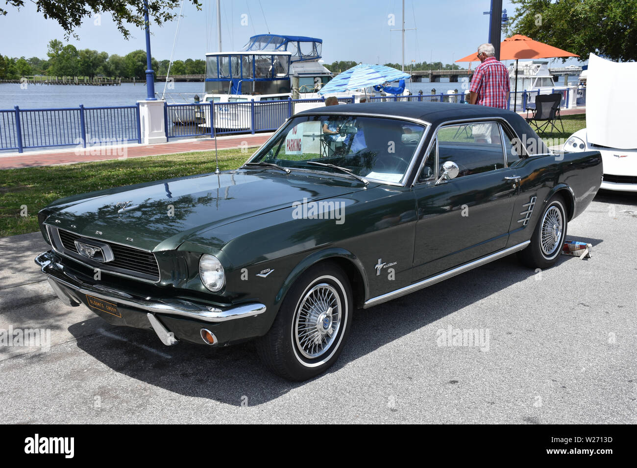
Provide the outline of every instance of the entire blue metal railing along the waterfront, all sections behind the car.
{"type": "MultiPolygon", "coordinates": [[[[562,94],[564,106],[569,102],[568,88],[555,88],[562,94]]],[[[517,109],[534,108],[540,91],[511,92],[509,108],[517,100],[517,109]],[[515,96],[514,96],[515,95],[515,96]]],[[[325,97],[284,99],[280,101],[244,101],[229,103],[164,104],[166,137],[182,138],[215,134],[253,133],[278,129],[292,117],[294,104],[323,103],[325,97]]],[[[354,96],[338,98],[340,103],[355,102],[354,96]]],[[[440,102],[465,103],[465,95],[429,94],[412,96],[368,97],[370,102],[440,102]]],[[[84,107],[60,109],[0,110],[0,150],[44,148],[49,146],[96,145],[99,143],[141,143],[140,105],[118,107],[84,107]]]]}

